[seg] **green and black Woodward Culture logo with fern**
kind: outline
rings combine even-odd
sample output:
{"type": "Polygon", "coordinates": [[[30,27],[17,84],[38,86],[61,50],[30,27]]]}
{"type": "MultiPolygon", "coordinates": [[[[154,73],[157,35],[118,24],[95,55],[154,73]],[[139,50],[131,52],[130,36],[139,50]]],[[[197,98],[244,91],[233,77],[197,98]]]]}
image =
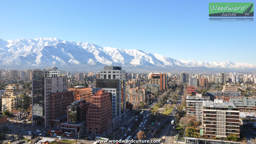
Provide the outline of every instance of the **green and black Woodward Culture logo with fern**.
{"type": "Polygon", "coordinates": [[[217,17],[252,17],[253,2],[210,2],[209,16],[217,17]]]}

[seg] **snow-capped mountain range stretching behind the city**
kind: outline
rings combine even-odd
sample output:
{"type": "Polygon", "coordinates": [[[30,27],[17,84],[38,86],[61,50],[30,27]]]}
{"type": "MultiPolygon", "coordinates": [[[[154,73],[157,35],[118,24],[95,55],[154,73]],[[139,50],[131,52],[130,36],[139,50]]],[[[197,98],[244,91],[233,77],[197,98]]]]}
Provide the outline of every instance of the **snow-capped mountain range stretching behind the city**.
{"type": "Polygon", "coordinates": [[[209,69],[256,69],[256,65],[233,62],[196,62],[176,60],[137,49],[100,47],[86,42],[58,38],[0,39],[0,66],[150,66],[209,69]]]}

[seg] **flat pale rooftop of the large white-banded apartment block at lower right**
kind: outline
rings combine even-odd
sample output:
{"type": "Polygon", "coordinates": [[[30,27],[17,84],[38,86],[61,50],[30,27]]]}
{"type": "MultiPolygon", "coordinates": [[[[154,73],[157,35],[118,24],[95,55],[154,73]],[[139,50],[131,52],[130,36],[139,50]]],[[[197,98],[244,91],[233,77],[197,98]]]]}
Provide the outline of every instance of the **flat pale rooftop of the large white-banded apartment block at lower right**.
{"type": "MultiPolygon", "coordinates": [[[[216,99],[215,99],[216,100],[216,99]]],[[[228,108],[228,107],[236,107],[234,103],[231,102],[221,102],[219,101],[203,101],[203,107],[223,107],[223,108],[228,108]]]]}

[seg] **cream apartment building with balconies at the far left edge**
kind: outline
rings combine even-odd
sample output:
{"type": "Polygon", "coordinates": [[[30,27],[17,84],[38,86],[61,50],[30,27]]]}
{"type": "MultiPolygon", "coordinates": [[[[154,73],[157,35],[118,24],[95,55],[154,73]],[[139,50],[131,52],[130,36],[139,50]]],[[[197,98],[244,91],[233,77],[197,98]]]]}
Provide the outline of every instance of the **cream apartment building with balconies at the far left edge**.
{"type": "Polygon", "coordinates": [[[5,87],[4,94],[2,95],[1,110],[9,111],[15,110],[20,105],[20,95],[25,92],[20,84],[12,84],[5,87]]]}

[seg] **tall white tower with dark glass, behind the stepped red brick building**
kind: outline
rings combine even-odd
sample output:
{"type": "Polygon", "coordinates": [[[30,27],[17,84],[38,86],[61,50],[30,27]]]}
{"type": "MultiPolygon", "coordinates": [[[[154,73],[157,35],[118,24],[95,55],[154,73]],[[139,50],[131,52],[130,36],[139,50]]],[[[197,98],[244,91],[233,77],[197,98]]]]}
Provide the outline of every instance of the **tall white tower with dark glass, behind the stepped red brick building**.
{"type": "Polygon", "coordinates": [[[114,121],[121,121],[121,115],[126,110],[126,73],[121,66],[104,66],[101,77],[96,80],[96,87],[112,94],[112,116],[114,121]]]}

